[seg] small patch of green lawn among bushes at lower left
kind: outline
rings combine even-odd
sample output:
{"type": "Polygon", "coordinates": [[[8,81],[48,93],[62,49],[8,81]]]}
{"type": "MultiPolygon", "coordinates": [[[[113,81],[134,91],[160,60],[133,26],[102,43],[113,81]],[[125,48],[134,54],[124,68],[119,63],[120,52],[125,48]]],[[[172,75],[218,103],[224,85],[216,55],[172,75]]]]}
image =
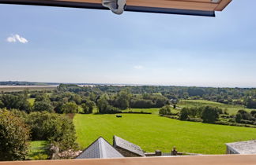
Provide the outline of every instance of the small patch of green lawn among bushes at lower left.
{"type": "Polygon", "coordinates": [[[47,152],[48,145],[47,141],[31,141],[28,159],[33,159],[34,156],[38,156],[39,154],[45,154],[45,152],[47,152]]]}

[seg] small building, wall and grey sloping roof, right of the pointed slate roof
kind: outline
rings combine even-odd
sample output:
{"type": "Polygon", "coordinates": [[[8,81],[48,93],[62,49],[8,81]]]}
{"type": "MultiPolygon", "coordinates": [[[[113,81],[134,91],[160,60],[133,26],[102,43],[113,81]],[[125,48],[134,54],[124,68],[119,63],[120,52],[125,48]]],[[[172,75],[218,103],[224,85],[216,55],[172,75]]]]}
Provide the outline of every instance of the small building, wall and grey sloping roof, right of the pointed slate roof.
{"type": "Polygon", "coordinates": [[[140,146],[117,136],[113,137],[113,146],[125,157],[145,156],[140,146]]]}

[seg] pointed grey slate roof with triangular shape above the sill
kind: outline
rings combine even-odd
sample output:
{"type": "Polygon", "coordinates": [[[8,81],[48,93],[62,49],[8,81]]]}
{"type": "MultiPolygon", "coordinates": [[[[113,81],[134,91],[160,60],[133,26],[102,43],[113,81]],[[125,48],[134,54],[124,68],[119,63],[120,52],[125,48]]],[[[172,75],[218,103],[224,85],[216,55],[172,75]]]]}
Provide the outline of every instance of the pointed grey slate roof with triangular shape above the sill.
{"type": "Polygon", "coordinates": [[[76,159],[93,159],[93,158],[122,158],[122,154],[119,153],[112,145],[110,145],[104,138],[100,137],[94,141],[88,148],[85,148],[83,152],[76,159]]]}

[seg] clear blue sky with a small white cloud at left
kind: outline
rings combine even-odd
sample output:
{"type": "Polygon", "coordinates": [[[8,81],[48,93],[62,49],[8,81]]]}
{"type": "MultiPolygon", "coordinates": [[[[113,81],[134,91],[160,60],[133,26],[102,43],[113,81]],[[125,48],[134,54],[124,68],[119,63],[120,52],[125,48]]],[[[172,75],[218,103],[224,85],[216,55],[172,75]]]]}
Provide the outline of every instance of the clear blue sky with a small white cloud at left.
{"type": "Polygon", "coordinates": [[[0,5],[0,81],[256,87],[254,6],[205,17],[0,5]]]}

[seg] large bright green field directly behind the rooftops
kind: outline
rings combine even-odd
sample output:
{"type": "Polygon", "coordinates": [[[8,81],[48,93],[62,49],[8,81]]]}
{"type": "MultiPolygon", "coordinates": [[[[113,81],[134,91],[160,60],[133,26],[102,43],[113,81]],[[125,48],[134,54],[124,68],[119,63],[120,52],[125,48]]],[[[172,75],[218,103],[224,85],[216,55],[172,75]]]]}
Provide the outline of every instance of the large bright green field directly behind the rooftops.
{"type": "Polygon", "coordinates": [[[112,143],[113,135],[117,135],[146,152],[170,152],[176,146],[179,152],[224,154],[225,143],[256,139],[254,128],[185,122],[157,115],[122,114],[122,118],[116,118],[77,114],[73,123],[81,148],[100,136],[112,143]]]}

